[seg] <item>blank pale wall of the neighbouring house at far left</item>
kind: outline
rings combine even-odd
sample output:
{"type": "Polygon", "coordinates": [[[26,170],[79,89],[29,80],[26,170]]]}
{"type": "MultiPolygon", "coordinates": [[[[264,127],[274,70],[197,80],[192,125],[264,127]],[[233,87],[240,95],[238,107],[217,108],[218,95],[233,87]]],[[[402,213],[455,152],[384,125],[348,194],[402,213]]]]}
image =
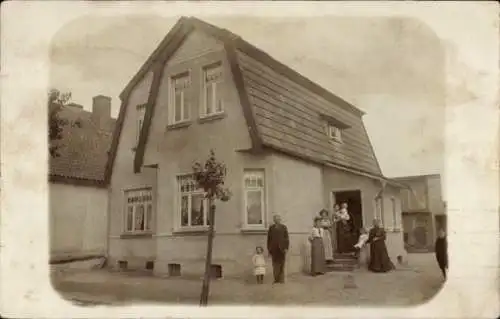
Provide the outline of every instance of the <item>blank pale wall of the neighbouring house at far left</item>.
{"type": "Polygon", "coordinates": [[[51,259],[104,255],[107,189],[49,184],[51,259]]]}

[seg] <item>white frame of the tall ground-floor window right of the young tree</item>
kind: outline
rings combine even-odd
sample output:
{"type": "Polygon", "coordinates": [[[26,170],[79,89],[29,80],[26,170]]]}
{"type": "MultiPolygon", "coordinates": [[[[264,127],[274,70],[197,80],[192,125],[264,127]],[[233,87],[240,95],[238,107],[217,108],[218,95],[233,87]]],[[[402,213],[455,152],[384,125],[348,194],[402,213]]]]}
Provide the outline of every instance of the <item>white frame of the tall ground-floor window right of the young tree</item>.
{"type": "Polygon", "coordinates": [[[263,168],[248,168],[243,170],[243,180],[242,180],[242,191],[243,191],[243,221],[242,221],[242,229],[243,230],[262,230],[267,227],[267,187],[266,187],[266,171],[263,168]],[[262,179],[262,186],[248,187],[246,185],[246,178],[249,175],[256,175],[262,179]],[[261,224],[249,224],[248,223],[248,193],[252,191],[261,191],[261,224]]]}

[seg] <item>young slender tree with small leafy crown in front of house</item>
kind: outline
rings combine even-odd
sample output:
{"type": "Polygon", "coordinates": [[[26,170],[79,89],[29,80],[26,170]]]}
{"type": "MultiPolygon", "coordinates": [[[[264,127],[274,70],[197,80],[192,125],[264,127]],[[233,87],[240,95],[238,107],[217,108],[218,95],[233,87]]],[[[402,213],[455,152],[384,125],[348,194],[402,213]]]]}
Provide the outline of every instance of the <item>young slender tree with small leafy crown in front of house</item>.
{"type": "Polygon", "coordinates": [[[200,306],[208,304],[208,295],[210,292],[211,266],[212,266],[212,249],[214,241],[215,228],[215,209],[216,201],[229,201],[231,192],[228,188],[224,188],[224,180],[226,178],[226,165],[217,161],[215,152],[210,151],[210,156],[204,165],[196,162],[193,165],[194,179],[200,188],[205,191],[205,197],[209,202],[208,210],[208,243],[207,254],[205,260],[205,276],[203,277],[203,286],[201,289],[200,306]]]}

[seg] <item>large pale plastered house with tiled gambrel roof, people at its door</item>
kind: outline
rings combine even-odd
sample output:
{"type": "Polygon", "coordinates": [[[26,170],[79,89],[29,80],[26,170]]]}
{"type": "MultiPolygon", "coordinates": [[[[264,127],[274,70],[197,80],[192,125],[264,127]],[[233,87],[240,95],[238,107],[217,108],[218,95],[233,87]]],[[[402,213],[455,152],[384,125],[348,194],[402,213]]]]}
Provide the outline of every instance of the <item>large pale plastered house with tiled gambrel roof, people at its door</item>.
{"type": "Polygon", "coordinates": [[[110,265],[167,274],[204,269],[207,203],[192,165],[210,149],[233,197],[219,203],[213,263],[249,271],[279,213],[288,272],[304,267],[313,217],[347,201],[358,226],[388,229],[405,256],[400,185],[382,175],[363,112],[233,33],[181,18],[120,95],[110,183],[110,265]]]}

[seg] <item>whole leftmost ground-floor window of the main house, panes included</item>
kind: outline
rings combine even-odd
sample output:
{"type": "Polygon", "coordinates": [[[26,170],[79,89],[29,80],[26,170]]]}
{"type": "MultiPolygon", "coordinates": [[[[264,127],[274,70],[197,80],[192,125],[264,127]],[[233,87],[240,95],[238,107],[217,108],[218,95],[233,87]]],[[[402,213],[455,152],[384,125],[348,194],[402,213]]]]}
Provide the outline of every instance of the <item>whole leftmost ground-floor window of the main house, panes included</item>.
{"type": "Polygon", "coordinates": [[[153,223],[153,195],[150,188],[125,191],[125,231],[148,232],[153,223]]]}

